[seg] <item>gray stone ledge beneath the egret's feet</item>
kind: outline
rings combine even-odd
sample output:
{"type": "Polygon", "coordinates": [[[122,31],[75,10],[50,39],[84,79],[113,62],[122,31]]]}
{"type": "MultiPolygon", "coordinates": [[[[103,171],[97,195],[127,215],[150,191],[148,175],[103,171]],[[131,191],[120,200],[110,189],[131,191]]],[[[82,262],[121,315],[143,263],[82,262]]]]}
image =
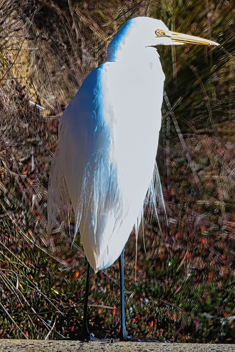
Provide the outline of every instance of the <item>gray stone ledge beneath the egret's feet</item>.
{"type": "Polygon", "coordinates": [[[235,352],[235,345],[0,340],[0,352],[235,352]]]}

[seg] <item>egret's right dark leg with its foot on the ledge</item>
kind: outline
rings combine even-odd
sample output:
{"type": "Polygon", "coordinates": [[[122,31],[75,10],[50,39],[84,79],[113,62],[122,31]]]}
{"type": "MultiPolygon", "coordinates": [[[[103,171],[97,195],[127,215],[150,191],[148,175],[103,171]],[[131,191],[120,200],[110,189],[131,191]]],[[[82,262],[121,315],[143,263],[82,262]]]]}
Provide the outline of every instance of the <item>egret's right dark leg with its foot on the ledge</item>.
{"type": "Polygon", "coordinates": [[[119,263],[119,274],[120,274],[120,315],[121,315],[121,323],[120,323],[120,331],[118,334],[118,338],[120,341],[135,341],[135,342],[159,342],[156,340],[140,340],[126,334],[126,325],[125,325],[125,307],[124,307],[124,270],[123,270],[123,258],[124,258],[124,250],[118,258],[119,263]]]}

